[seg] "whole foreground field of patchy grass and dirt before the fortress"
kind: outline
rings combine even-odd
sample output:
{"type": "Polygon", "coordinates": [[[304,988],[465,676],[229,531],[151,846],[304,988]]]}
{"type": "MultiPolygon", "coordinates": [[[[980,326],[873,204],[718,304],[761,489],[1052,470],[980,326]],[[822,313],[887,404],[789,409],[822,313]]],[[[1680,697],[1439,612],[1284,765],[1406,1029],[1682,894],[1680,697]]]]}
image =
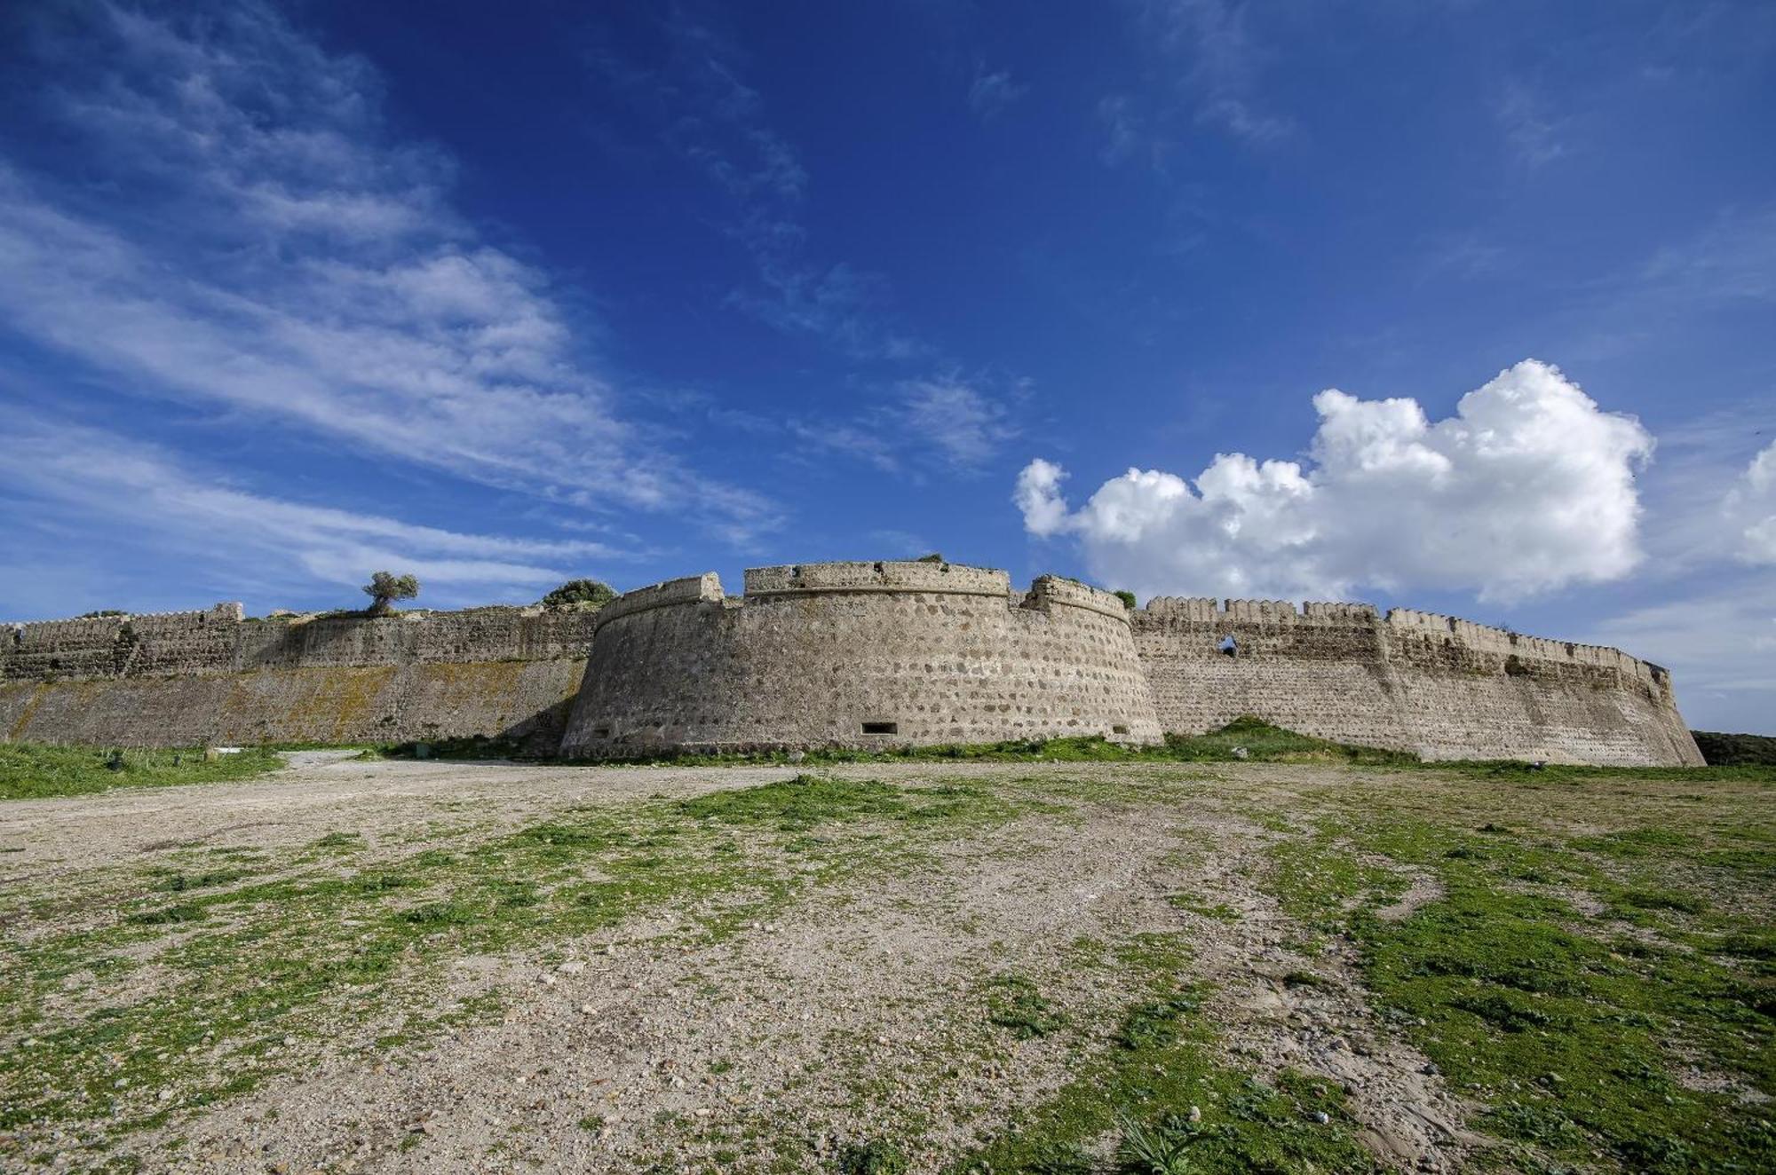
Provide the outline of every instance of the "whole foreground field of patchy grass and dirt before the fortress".
{"type": "Polygon", "coordinates": [[[0,1166],[1776,1170],[1771,769],[162,754],[0,832],[0,1166]]]}

